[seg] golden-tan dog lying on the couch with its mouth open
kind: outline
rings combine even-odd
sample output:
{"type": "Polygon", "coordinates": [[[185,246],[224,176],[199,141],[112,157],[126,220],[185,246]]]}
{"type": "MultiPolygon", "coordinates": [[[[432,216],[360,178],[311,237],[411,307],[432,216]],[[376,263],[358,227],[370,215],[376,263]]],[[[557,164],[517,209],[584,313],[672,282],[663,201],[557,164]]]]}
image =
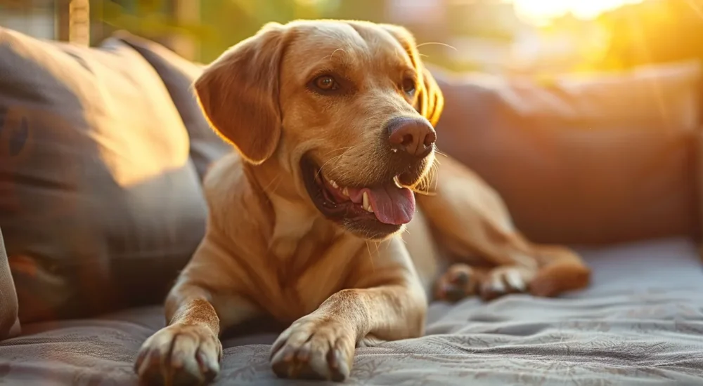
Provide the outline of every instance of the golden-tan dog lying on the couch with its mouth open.
{"type": "Polygon", "coordinates": [[[141,347],[142,382],[209,382],[220,332],[262,315],[290,325],[276,375],[342,381],[355,347],[422,335],[432,296],[588,284],[578,255],[529,242],[491,187],[439,155],[444,99],[403,27],[270,23],[194,89],[237,151],[207,173],[207,231],[141,347]]]}

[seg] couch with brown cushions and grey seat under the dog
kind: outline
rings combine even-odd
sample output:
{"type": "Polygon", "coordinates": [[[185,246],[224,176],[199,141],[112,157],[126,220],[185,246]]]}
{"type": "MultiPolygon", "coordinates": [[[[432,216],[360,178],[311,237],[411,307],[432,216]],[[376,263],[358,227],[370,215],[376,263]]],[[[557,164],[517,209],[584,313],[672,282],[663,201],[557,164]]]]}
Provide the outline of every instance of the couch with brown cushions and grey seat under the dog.
{"type": "MultiPolygon", "coordinates": [[[[231,149],[201,66],[118,32],[95,48],[0,28],[0,385],[136,385],[141,342],[204,232],[200,182],[231,149]]],[[[433,69],[439,149],[534,241],[576,248],[585,291],[430,306],[423,338],[361,348],[349,385],[703,385],[695,63],[508,79],[433,69]]],[[[278,380],[281,326],[223,337],[217,385],[278,380]]]]}

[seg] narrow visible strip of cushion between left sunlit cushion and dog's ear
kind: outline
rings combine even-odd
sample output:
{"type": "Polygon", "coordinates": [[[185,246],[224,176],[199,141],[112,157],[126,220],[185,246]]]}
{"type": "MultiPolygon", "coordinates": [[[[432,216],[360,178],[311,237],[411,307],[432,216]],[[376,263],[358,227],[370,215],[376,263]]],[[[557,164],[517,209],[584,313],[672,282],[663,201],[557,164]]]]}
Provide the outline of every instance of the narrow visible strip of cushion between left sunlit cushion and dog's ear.
{"type": "Polygon", "coordinates": [[[191,159],[202,180],[207,168],[214,161],[232,151],[231,145],[210,128],[195,99],[191,86],[202,72],[202,66],[181,58],[160,44],[129,32],[119,31],[114,36],[138,51],[161,76],[188,130],[188,136],[191,138],[191,159]]]}

